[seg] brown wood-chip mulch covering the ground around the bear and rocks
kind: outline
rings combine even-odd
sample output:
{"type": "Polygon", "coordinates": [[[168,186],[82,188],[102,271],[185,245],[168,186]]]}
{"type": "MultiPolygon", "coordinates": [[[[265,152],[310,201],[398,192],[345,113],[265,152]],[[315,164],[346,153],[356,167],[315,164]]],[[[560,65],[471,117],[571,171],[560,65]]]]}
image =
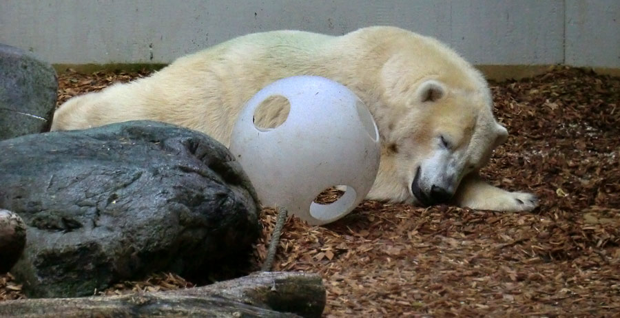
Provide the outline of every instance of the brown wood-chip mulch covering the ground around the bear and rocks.
{"type": "MultiPolygon", "coordinates": [[[[68,72],[60,76],[59,103],[146,75],[68,72]]],[[[482,174],[533,191],[539,209],[364,202],[327,226],[289,218],[275,269],[320,273],[326,317],[618,317],[620,78],[557,67],[491,85],[510,137],[482,174]]],[[[275,211],[264,211],[256,264],[275,220],[275,211]]],[[[102,293],[186,286],[157,274],[102,293]]],[[[23,297],[20,287],[0,276],[0,299],[23,297]]]]}

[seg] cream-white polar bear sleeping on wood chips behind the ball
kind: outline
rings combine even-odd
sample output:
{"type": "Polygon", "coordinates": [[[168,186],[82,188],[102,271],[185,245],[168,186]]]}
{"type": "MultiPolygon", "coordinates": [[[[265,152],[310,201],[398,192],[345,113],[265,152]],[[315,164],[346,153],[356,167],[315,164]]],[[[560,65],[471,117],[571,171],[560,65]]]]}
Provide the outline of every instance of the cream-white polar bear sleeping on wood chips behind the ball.
{"type": "MultiPolygon", "coordinates": [[[[530,193],[504,191],[477,177],[508,134],[493,117],[483,76],[439,41],[393,27],[343,36],[299,31],[241,36],[180,58],[148,78],[71,98],[54,114],[52,130],[158,120],[202,131],[228,146],[245,102],[269,83],[294,75],[331,78],[369,107],[382,142],[369,199],[495,211],[537,206],[530,193]]],[[[262,127],[285,120],[285,103],[276,106],[256,114],[262,127]]]]}

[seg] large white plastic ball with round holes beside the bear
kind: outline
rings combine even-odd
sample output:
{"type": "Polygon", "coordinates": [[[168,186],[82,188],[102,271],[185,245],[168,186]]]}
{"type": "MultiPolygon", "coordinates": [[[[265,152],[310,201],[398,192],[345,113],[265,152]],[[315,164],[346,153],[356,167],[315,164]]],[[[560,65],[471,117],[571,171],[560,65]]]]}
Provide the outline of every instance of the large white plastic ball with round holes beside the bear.
{"type": "Polygon", "coordinates": [[[369,193],[379,169],[377,125],[362,100],[340,83],[319,76],[284,78],[251,98],[234,126],[230,151],[264,206],[282,206],[309,224],[333,222],[369,193]],[[254,125],[257,107],[270,96],[289,100],[285,122],[254,125]],[[313,202],[346,186],[331,204],[313,202]]]}

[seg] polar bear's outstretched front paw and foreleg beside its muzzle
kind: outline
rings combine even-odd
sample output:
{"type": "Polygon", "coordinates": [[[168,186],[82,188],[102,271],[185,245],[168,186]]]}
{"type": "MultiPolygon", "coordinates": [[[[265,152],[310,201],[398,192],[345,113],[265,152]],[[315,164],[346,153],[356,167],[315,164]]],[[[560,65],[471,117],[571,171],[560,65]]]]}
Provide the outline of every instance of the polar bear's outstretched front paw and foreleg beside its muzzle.
{"type": "Polygon", "coordinates": [[[532,211],[538,206],[535,195],[525,192],[510,192],[494,187],[473,174],[466,177],[455,194],[458,206],[476,210],[532,211]]]}

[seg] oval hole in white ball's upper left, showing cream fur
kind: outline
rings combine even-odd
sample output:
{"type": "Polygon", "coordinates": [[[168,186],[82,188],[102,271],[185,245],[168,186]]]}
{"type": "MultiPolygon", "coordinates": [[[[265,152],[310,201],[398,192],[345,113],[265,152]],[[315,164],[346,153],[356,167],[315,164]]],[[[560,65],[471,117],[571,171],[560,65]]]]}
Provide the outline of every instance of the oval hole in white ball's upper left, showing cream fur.
{"type": "Polygon", "coordinates": [[[256,107],[254,126],[260,131],[276,129],[287,121],[290,110],[291,103],[285,96],[269,96],[256,107]]]}

